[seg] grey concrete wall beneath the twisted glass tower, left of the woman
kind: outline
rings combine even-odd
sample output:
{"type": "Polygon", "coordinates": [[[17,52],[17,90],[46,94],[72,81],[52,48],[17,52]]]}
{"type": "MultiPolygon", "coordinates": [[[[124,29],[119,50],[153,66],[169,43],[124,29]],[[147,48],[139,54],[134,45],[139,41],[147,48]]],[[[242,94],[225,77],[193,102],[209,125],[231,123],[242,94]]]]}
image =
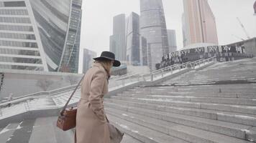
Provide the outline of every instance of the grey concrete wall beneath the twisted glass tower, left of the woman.
{"type": "Polygon", "coordinates": [[[0,90],[3,97],[20,97],[35,92],[68,87],[79,82],[82,74],[51,73],[37,71],[0,71],[4,80],[0,90]]]}

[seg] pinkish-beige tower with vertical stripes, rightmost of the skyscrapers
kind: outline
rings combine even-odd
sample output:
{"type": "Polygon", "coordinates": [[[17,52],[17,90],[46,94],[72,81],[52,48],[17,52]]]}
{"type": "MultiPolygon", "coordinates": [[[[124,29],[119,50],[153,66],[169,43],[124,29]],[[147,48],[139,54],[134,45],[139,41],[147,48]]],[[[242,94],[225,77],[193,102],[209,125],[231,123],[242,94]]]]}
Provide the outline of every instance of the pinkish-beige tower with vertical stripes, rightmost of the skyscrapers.
{"type": "Polygon", "coordinates": [[[218,44],[214,14],[207,0],[183,0],[183,43],[218,44]]]}

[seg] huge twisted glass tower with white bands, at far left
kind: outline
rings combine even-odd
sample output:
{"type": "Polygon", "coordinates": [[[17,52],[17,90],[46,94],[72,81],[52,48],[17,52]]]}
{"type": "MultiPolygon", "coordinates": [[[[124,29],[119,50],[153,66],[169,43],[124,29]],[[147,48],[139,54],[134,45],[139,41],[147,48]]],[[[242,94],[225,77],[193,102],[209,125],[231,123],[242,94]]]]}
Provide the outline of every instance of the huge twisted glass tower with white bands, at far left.
{"type": "Polygon", "coordinates": [[[0,69],[77,72],[81,3],[0,0],[0,69]]]}

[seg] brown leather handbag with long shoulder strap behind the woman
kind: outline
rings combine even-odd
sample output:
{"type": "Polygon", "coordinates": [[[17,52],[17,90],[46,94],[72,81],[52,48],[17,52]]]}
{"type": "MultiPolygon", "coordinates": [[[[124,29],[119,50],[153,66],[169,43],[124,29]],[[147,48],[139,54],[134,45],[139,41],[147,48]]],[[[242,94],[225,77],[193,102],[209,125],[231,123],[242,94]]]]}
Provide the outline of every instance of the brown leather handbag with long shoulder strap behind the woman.
{"type": "MultiPolygon", "coordinates": [[[[84,77],[84,75],[83,75],[84,77]]],[[[76,89],[78,89],[79,85],[81,84],[82,79],[76,86],[76,89]]],[[[77,107],[68,107],[68,102],[70,102],[70,99],[73,97],[73,94],[75,94],[76,89],[72,92],[71,96],[69,97],[67,103],[63,107],[63,109],[60,112],[60,115],[57,120],[57,127],[62,129],[63,131],[67,131],[68,129],[73,129],[76,127],[76,112],[77,112],[77,107]]]]}

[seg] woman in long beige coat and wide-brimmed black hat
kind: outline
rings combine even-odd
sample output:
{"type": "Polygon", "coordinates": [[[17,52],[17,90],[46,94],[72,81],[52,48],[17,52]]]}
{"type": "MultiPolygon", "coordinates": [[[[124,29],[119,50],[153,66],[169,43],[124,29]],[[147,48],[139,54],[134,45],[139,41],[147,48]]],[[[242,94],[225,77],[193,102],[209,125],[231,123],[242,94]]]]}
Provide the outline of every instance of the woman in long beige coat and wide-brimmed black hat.
{"type": "Polygon", "coordinates": [[[109,126],[106,122],[103,97],[108,92],[111,66],[120,66],[113,53],[103,51],[94,58],[81,86],[81,100],[76,115],[77,143],[109,143],[109,126]]]}

